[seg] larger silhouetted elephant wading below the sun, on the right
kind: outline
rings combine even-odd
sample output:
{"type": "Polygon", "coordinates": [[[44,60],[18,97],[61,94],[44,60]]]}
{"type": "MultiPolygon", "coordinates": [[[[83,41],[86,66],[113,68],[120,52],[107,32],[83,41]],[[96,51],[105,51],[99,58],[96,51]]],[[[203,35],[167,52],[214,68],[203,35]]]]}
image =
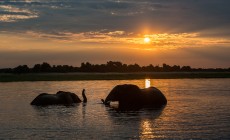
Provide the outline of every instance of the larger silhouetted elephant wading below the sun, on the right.
{"type": "Polygon", "coordinates": [[[149,87],[140,89],[136,85],[117,85],[115,86],[105,100],[105,105],[110,102],[118,101],[120,109],[134,109],[142,107],[162,107],[167,104],[167,99],[162,92],[155,88],[149,87]]]}

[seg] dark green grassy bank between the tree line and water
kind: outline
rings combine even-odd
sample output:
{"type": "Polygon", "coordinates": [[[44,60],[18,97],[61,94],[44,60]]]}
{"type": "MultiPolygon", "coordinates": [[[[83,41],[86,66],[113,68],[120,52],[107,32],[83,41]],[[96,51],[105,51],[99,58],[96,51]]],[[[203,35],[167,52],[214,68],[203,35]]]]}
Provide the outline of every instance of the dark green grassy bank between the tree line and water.
{"type": "Polygon", "coordinates": [[[33,73],[0,74],[0,82],[132,79],[230,78],[230,72],[33,73]]]}

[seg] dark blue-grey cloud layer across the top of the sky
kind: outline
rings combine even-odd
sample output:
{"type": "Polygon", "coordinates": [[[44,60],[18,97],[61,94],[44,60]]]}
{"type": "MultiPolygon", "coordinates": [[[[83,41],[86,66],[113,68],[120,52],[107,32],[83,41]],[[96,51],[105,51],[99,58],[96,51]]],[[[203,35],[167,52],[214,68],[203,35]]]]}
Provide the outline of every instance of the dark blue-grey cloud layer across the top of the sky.
{"type": "MultiPolygon", "coordinates": [[[[140,32],[148,28],[158,33],[184,33],[230,28],[229,0],[4,0],[0,4],[8,7],[0,8],[0,30],[5,31],[140,32]],[[15,12],[4,13],[9,7],[15,12]],[[15,23],[4,24],[10,21],[15,23]]],[[[229,36],[230,31],[225,34],[229,36]]]]}

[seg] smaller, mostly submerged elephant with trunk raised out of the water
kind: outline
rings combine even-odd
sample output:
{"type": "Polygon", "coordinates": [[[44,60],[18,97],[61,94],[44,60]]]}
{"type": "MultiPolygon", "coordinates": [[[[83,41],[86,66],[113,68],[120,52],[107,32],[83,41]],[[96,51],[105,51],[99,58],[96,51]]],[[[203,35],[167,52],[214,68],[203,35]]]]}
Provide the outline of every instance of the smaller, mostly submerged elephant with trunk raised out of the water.
{"type": "MultiPolygon", "coordinates": [[[[87,102],[85,89],[82,90],[83,102],[87,102]]],[[[71,92],[58,91],[56,94],[41,93],[30,104],[37,106],[46,105],[72,105],[82,102],[79,97],[71,92]]]]}

